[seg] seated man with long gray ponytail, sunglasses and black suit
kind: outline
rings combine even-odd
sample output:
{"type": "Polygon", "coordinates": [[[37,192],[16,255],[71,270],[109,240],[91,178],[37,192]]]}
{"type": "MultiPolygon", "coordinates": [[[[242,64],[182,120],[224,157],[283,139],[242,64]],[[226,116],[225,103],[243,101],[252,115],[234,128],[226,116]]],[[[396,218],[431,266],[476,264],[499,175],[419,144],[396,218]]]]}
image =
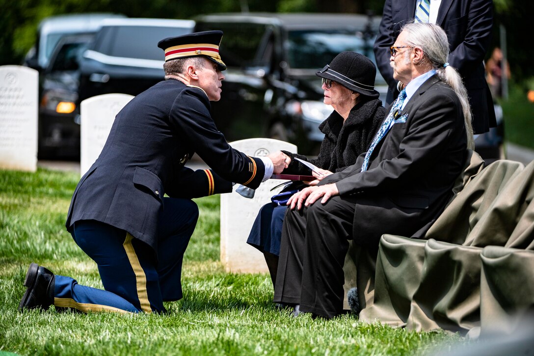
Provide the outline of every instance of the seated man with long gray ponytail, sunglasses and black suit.
{"type": "Polygon", "coordinates": [[[295,194],[282,230],[274,301],[332,318],[343,309],[348,240],[376,254],[383,234],[422,237],[473,148],[465,87],[443,29],[409,24],[391,47],[404,89],[356,164],[295,194]]]}

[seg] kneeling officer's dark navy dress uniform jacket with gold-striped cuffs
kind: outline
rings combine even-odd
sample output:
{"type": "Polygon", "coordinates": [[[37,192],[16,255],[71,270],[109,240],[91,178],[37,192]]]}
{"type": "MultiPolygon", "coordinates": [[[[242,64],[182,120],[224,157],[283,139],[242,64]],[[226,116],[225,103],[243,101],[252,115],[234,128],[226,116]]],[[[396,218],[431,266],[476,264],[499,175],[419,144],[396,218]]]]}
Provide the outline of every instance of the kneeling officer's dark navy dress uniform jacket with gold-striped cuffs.
{"type": "Polygon", "coordinates": [[[117,114],[100,156],[78,183],[66,227],[97,220],[128,231],[154,250],[163,195],[194,198],[230,192],[231,182],[257,188],[265,167],[232,149],[211,119],[206,93],[167,80],[117,114]],[[198,155],[213,169],[184,167],[198,155]]]}

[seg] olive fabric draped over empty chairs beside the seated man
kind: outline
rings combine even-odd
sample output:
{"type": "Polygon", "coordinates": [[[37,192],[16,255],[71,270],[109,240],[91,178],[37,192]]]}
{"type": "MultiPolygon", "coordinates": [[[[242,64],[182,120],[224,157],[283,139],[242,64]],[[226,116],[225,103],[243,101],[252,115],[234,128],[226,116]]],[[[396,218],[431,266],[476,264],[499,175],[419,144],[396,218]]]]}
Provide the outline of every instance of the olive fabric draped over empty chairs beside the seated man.
{"type": "Polygon", "coordinates": [[[524,250],[534,249],[534,161],[496,161],[463,181],[426,239],[382,236],[360,320],[476,336],[510,320],[510,305],[532,308],[534,253],[524,250]]]}

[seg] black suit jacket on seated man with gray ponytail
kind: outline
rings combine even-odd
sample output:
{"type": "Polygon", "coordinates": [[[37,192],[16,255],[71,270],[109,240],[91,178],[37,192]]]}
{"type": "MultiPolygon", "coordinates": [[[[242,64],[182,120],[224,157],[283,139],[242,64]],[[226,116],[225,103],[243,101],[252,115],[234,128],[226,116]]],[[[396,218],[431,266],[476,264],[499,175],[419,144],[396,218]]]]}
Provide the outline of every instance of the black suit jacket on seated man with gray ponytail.
{"type": "Polygon", "coordinates": [[[376,145],[368,170],[356,164],[320,185],[336,183],[356,204],[353,237],[378,246],[382,234],[422,237],[452,196],[467,155],[464,115],[456,93],[432,76],[414,93],[376,145]],[[403,122],[405,120],[405,122],[403,122]]]}

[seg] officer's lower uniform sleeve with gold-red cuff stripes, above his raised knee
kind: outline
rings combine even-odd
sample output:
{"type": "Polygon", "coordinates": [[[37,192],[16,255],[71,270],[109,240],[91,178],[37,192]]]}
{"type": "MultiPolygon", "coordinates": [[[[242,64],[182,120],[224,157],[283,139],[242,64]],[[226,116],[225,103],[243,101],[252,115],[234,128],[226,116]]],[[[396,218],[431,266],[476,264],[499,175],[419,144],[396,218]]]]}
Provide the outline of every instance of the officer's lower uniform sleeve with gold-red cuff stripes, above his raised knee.
{"type": "Polygon", "coordinates": [[[167,188],[167,195],[172,198],[200,198],[208,195],[229,193],[232,183],[217,175],[211,169],[193,169],[182,167],[179,179],[167,188]]]}

